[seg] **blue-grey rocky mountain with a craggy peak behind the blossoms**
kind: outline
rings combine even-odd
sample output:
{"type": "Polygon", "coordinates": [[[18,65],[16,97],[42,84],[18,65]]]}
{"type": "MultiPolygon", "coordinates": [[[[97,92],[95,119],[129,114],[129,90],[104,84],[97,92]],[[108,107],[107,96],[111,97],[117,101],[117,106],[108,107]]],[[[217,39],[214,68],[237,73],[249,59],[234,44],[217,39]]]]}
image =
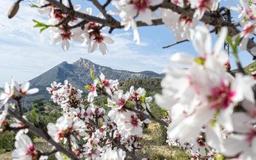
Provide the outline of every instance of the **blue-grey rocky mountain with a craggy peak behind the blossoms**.
{"type": "Polygon", "coordinates": [[[27,106],[26,104],[30,104],[30,101],[36,99],[49,99],[50,95],[47,93],[45,88],[50,86],[53,81],[56,81],[57,83],[64,83],[65,79],[67,79],[68,82],[70,82],[74,87],[86,92],[86,90],[84,90],[84,85],[87,83],[92,83],[92,78],[90,76],[91,68],[93,69],[93,73],[96,77],[99,77],[100,73],[102,73],[107,79],[118,79],[120,82],[127,79],[163,77],[163,74],[157,74],[156,72],[152,71],[130,72],[127,70],[115,70],[109,67],[97,65],[92,61],[83,58],[80,58],[80,60],[77,60],[72,64],[64,61],[29,81],[31,88],[38,88],[40,92],[36,93],[36,95],[26,97],[26,99],[24,99],[25,106],[27,106]]]}

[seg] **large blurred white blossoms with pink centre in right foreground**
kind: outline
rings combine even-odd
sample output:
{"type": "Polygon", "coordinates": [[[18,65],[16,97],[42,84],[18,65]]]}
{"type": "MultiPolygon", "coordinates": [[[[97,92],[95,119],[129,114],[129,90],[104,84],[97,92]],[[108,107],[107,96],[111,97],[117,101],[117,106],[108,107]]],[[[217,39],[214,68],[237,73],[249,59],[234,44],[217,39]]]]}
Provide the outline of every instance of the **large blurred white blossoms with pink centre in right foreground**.
{"type": "Polygon", "coordinates": [[[255,98],[252,87],[256,81],[240,73],[233,77],[226,71],[228,56],[220,45],[226,36],[227,28],[222,28],[211,49],[209,30],[198,26],[192,42],[200,55],[173,54],[171,61],[187,68],[166,70],[162,95],[156,95],[156,102],[167,108],[172,118],[168,127],[171,142],[196,144],[195,155],[199,152],[205,156],[205,148],[209,151],[214,148],[227,157],[253,159],[256,155],[253,152],[255,98]],[[235,111],[238,108],[245,112],[235,111]]]}

